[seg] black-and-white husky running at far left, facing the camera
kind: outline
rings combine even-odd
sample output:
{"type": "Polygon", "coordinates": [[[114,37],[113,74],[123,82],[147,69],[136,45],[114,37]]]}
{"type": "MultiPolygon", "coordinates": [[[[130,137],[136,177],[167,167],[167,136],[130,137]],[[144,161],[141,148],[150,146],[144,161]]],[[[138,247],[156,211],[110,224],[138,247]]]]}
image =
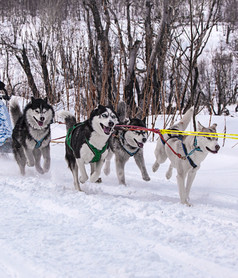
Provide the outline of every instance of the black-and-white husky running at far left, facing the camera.
{"type": "Polygon", "coordinates": [[[22,175],[25,175],[26,164],[36,167],[40,174],[50,169],[50,124],[53,122],[54,110],[45,99],[31,98],[23,110],[16,98],[10,102],[10,113],[14,124],[12,148],[22,175]],[[41,155],[44,158],[43,168],[40,165],[41,155]]]}

